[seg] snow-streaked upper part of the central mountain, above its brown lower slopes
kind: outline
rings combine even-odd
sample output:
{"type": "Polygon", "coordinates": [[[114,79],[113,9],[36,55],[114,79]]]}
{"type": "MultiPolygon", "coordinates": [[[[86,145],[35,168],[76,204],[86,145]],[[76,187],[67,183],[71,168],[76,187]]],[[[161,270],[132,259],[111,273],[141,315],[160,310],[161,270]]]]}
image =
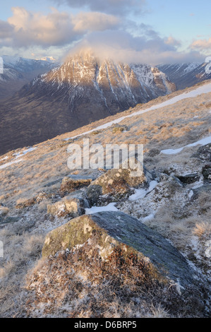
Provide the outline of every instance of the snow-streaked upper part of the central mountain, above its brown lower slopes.
{"type": "Polygon", "coordinates": [[[145,64],[115,64],[112,60],[100,62],[91,53],[80,53],[59,69],[35,78],[20,95],[33,93],[66,102],[71,113],[80,112],[81,105],[89,112],[92,105],[102,115],[109,115],[175,89],[174,83],[157,68],[145,64]]]}

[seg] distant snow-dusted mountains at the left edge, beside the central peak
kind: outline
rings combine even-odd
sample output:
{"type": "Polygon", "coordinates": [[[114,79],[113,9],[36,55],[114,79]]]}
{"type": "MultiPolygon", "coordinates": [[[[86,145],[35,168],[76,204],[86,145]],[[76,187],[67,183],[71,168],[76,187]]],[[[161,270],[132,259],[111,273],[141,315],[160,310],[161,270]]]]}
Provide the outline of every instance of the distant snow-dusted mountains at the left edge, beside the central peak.
{"type": "Polygon", "coordinates": [[[58,64],[22,57],[2,57],[4,73],[0,74],[0,100],[11,97],[37,75],[51,70],[58,64]]]}

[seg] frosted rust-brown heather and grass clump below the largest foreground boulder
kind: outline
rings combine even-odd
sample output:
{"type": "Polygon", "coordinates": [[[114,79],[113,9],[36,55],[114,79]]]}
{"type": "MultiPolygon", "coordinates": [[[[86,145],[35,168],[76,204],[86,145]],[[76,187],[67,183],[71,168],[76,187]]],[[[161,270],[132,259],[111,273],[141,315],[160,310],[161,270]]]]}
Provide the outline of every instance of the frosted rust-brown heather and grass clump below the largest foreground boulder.
{"type": "Polygon", "coordinates": [[[200,307],[195,312],[191,309],[190,296],[181,302],[174,286],[158,283],[147,263],[130,254],[126,258],[121,249],[114,250],[109,262],[102,261],[97,250],[92,249],[90,257],[89,246],[85,243],[73,252],[41,260],[28,273],[26,316],[166,318],[202,314],[200,307]]]}

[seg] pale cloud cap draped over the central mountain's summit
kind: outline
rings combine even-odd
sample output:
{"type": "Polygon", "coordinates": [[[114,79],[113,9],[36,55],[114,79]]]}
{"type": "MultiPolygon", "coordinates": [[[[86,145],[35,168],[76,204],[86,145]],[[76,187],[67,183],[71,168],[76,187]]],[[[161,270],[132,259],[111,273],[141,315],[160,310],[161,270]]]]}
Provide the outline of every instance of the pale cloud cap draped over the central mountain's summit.
{"type": "Polygon", "coordinates": [[[103,60],[111,58],[114,61],[135,62],[146,64],[203,62],[204,57],[199,52],[178,52],[176,47],[168,45],[165,38],[160,38],[153,32],[153,38],[145,35],[133,37],[123,30],[92,32],[67,56],[80,49],[92,49],[96,56],[103,60]]]}

